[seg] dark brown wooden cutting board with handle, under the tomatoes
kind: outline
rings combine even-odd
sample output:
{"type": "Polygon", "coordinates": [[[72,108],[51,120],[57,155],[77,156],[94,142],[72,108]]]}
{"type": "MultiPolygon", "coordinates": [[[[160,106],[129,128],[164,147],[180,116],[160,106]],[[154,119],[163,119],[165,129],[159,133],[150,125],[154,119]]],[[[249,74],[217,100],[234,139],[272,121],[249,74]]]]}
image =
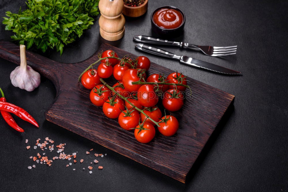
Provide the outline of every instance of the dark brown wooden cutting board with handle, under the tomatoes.
{"type": "MultiPolygon", "coordinates": [[[[56,87],[56,98],[45,113],[46,119],[185,183],[187,173],[233,103],[234,96],[188,77],[193,98],[186,99],[183,108],[172,113],[179,119],[177,134],[171,137],[156,134],[148,144],[139,143],[134,138],[134,131],[123,130],[117,119],[107,118],[101,107],[94,106],[89,99],[90,90],[77,82],[79,74],[98,59],[97,53],[108,49],[117,52],[119,57],[129,54],[112,45],[102,44],[87,60],[66,64],[27,51],[28,65],[50,79],[56,87]]],[[[0,41],[0,57],[19,65],[19,46],[0,41]]],[[[151,63],[148,75],[164,73],[167,76],[171,72],[151,63]]],[[[114,78],[108,81],[110,85],[115,82],[114,78]]]]}

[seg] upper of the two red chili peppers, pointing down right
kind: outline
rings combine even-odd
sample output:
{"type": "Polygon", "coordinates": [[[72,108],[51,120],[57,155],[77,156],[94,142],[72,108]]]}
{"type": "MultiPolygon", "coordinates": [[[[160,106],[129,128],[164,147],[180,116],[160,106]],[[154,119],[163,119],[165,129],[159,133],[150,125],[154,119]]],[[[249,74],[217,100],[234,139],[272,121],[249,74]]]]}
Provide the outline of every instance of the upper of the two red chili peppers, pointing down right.
{"type": "Polygon", "coordinates": [[[24,121],[28,121],[29,123],[35,125],[36,127],[39,127],[36,120],[27,111],[14,104],[0,101],[0,111],[7,111],[9,113],[14,113],[24,121]]]}

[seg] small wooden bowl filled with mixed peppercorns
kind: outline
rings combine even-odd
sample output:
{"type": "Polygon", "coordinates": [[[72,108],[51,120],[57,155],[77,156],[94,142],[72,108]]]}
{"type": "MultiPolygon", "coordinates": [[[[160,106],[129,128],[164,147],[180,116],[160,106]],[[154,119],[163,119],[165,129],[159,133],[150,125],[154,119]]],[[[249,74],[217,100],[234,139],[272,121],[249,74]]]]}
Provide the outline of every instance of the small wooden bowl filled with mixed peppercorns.
{"type": "Polygon", "coordinates": [[[146,13],[148,0],[124,0],[123,15],[139,17],[146,13]]]}

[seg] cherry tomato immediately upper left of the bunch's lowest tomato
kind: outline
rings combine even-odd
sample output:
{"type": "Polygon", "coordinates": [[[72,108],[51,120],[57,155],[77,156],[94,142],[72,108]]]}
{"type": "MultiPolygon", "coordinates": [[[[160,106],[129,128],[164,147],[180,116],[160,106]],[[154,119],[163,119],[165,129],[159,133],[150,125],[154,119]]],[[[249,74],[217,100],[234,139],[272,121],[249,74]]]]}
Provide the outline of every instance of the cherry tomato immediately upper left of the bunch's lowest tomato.
{"type": "Polygon", "coordinates": [[[124,110],[118,117],[120,127],[128,131],[131,130],[130,128],[136,128],[140,119],[140,115],[136,109],[132,109],[131,111],[127,112],[127,110],[124,110]]]}

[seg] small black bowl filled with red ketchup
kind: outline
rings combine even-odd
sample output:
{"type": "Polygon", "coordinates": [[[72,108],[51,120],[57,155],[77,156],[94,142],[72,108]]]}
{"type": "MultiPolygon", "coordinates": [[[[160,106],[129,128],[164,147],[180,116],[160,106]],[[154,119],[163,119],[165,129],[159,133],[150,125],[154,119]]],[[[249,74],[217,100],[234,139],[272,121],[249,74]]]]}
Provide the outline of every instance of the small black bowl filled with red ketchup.
{"type": "Polygon", "coordinates": [[[183,33],[185,14],[174,6],[162,6],[151,14],[152,30],[160,35],[179,36],[183,33]]]}

